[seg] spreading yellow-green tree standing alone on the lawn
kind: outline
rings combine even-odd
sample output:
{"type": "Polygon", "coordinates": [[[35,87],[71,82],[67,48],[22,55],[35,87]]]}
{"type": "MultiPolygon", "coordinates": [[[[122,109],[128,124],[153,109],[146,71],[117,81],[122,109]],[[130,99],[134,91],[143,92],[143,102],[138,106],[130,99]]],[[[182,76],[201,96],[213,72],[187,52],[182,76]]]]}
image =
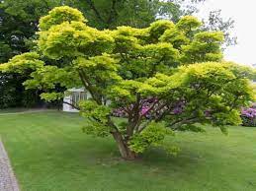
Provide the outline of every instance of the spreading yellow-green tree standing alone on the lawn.
{"type": "Polygon", "coordinates": [[[99,31],[86,23],[76,9],[54,8],[40,20],[39,51],[15,56],[0,70],[31,73],[24,85],[44,91],[47,101],[65,95],[55,87],[85,87],[92,98],[74,105],[88,119],[84,132],[112,135],[124,159],[150,146],[175,153],[164,145],[165,135],[200,130],[196,123],[225,132],[225,125],[241,122],[239,109],[253,97],[252,73],[221,62],[221,32],[201,32],[192,16],[144,29],[99,31]],[[113,118],[117,109],[127,115],[121,124],[113,118]]]}

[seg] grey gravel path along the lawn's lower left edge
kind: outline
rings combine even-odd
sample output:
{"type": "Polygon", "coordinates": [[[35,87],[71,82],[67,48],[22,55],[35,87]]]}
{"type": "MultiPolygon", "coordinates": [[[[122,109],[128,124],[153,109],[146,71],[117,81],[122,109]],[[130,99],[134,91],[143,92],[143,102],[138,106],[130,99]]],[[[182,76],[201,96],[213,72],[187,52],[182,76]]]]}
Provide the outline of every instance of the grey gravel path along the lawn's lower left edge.
{"type": "Polygon", "coordinates": [[[0,191],[19,191],[10,160],[0,140],[0,191]]]}

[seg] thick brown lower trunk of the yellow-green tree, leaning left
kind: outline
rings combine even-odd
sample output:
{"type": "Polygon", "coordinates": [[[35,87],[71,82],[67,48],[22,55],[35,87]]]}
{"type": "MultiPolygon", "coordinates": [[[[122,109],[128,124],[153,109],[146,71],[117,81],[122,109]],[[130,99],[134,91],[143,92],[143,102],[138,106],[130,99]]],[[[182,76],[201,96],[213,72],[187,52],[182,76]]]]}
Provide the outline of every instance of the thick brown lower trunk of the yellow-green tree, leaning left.
{"type": "Polygon", "coordinates": [[[113,137],[118,144],[119,151],[123,159],[136,159],[136,154],[128,148],[128,144],[124,141],[120,132],[114,132],[113,137]]]}

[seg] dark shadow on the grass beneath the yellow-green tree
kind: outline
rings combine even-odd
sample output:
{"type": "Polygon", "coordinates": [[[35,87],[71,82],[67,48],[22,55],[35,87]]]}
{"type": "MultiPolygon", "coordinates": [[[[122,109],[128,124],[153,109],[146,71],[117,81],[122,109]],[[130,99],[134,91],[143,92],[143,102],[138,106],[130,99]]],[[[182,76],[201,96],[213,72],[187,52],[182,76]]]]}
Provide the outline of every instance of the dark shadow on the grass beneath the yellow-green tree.
{"type": "Polygon", "coordinates": [[[45,154],[43,156],[48,156],[48,158],[44,159],[50,161],[53,169],[62,168],[63,166],[67,168],[71,167],[73,170],[88,166],[104,166],[105,168],[118,167],[121,170],[121,165],[128,165],[130,168],[126,167],[124,170],[133,171],[139,168],[146,169],[149,167],[150,169],[157,168],[157,171],[163,172],[179,168],[188,168],[191,171],[191,166],[199,167],[201,165],[200,157],[194,151],[182,150],[174,157],[156,148],[149,149],[143,155],[140,155],[138,159],[131,161],[125,160],[121,158],[118,148],[111,138],[100,139],[86,137],[84,140],[70,140],[67,143],[51,145],[50,149],[42,147],[40,152],[45,154]]]}

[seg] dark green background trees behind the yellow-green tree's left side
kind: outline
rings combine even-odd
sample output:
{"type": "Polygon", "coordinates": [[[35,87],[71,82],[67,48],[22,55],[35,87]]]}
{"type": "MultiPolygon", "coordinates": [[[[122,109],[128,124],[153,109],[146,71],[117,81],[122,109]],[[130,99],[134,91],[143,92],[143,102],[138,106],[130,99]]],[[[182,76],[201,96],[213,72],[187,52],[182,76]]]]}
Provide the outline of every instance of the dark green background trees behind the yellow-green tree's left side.
{"type": "MultiPolygon", "coordinates": [[[[33,49],[39,19],[60,5],[79,8],[98,29],[115,28],[117,25],[145,26],[155,19],[157,2],[148,1],[76,1],[76,0],[5,0],[0,1],[0,63],[14,55],[33,49]],[[135,8],[136,9],[133,9],[135,8]]],[[[25,91],[23,75],[0,74],[0,107],[35,106],[37,92],[25,91]],[[7,98],[8,97],[8,98],[7,98]],[[26,103],[26,104],[25,104],[26,103]]]]}

